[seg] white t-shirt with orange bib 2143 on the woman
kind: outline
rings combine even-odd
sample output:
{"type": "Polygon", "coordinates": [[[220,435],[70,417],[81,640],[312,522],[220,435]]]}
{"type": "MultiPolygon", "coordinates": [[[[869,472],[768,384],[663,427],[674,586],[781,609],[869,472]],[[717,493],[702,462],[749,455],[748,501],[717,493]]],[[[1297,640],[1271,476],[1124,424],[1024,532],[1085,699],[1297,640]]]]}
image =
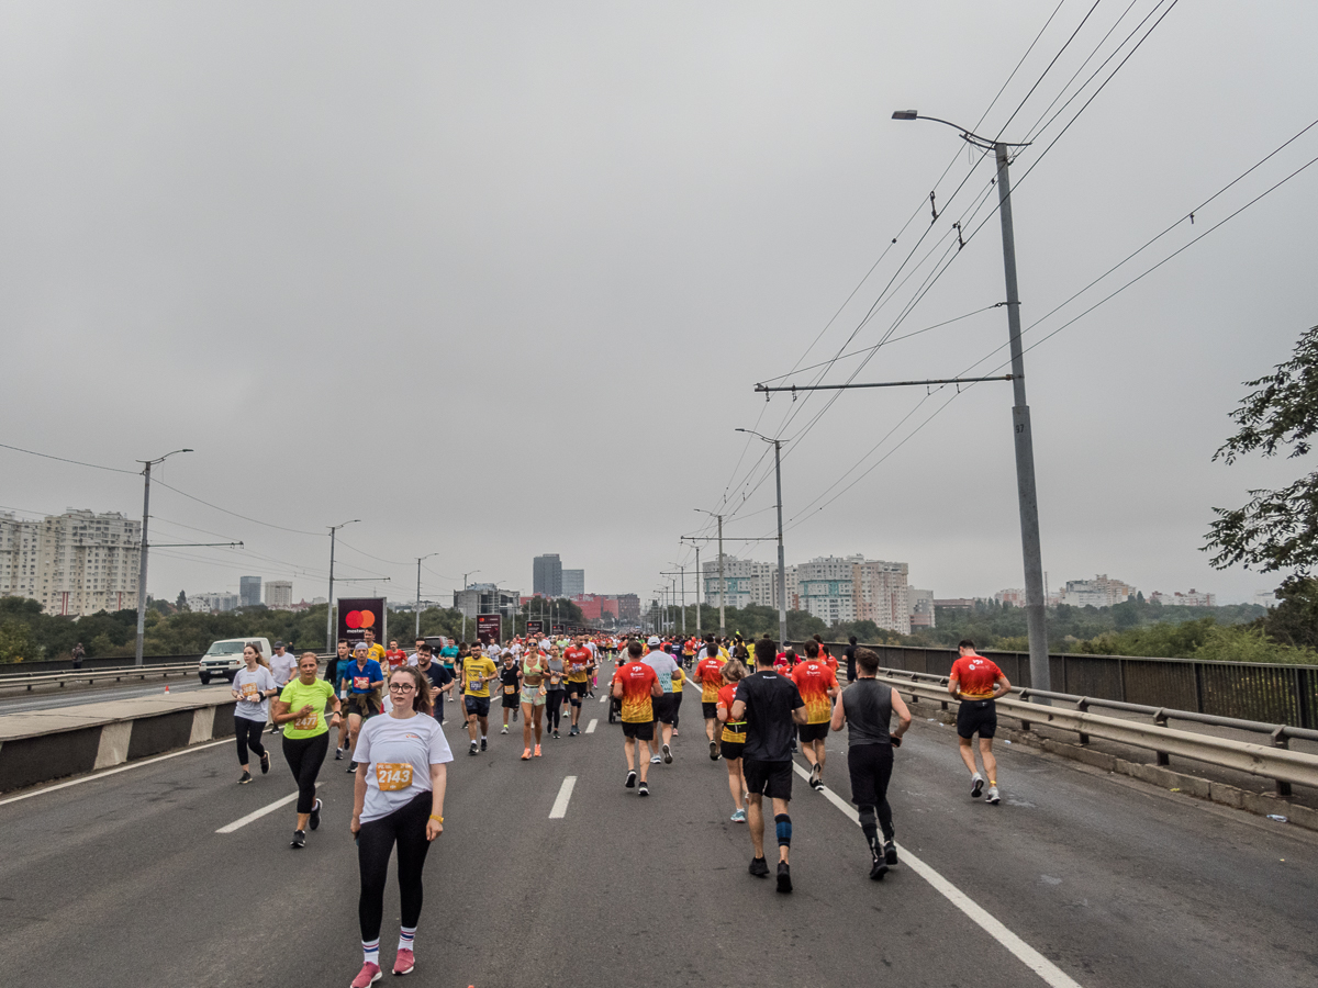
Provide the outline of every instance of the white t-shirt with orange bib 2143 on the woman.
{"type": "Polygon", "coordinates": [[[361,726],[357,764],[366,765],[366,801],[361,822],[402,809],[431,790],[430,767],[453,760],[444,728],[434,717],[372,717],[361,726]]]}

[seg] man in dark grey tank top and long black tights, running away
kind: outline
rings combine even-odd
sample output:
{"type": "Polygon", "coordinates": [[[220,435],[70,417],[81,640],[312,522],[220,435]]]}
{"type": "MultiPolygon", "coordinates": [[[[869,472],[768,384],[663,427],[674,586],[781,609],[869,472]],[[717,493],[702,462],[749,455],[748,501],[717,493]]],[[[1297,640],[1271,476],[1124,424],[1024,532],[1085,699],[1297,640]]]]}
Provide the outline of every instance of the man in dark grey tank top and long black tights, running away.
{"type": "Polygon", "coordinates": [[[892,808],[888,806],[888,780],[892,777],[892,747],[902,746],[902,735],[911,727],[911,711],[896,689],[879,682],[879,656],[869,648],[855,649],[857,680],[845,690],[833,709],[834,731],[847,728],[846,767],[851,775],[851,802],[861,814],[861,830],[870,846],[870,877],[883,879],[890,864],[898,863],[892,843],[892,808]],[[900,718],[898,728],[888,732],[892,714],[900,718]],[[883,840],[879,840],[879,826],[883,840]]]}

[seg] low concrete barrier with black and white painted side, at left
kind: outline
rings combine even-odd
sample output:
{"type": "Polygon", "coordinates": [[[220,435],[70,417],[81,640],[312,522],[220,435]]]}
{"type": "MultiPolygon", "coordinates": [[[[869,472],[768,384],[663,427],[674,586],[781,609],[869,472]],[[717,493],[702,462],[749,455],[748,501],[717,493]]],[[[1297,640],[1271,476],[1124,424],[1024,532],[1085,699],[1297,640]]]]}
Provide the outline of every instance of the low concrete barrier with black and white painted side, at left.
{"type": "Polygon", "coordinates": [[[0,717],[0,792],[233,735],[228,684],[0,717]]]}

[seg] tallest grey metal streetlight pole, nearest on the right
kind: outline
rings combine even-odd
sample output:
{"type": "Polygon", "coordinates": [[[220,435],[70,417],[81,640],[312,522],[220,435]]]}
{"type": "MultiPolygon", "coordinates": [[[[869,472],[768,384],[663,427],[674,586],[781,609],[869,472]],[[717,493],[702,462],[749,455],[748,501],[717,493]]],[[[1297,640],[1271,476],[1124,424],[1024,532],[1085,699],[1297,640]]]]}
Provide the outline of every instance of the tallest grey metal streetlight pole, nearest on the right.
{"type": "Polygon", "coordinates": [[[1011,410],[1016,443],[1016,497],[1020,502],[1020,549],[1025,565],[1025,623],[1029,628],[1029,685],[1050,690],[1048,664],[1048,611],[1044,599],[1044,561],[1039,537],[1039,494],[1035,489],[1035,440],[1025,402],[1025,358],[1020,345],[1020,292],[1016,288],[1016,237],[1011,221],[1010,149],[1007,144],[981,137],[963,126],[938,117],[920,116],[913,109],[899,109],[894,120],[932,120],[961,132],[961,138],[975,148],[992,149],[998,163],[998,217],[1002,223],[1002,262],[1007,283],[1007,332],[1011,343],[1011,386],[1015,404],[1011,410]]]}

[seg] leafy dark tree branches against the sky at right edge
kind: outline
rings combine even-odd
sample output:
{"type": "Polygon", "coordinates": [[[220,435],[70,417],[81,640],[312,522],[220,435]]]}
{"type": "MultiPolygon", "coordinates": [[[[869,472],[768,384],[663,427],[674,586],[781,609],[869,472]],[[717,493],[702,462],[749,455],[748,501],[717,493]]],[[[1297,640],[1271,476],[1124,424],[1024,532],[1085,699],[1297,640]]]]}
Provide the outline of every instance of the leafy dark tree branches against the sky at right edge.
{"type": "MultiPolygon", "coordinates": [[[[1289,451],[1286,458],[1309,453],[1318,431],[1318,325],[1300,337],[1289,361],[1246,387],[1256,390],[1231,412],[1239,429],[1213,458],[1234,464],[1251,452],[1289,451]]],[[[1318,472],[1280,490],[1251,490],[1242,507],[1213,511],[1218,520],[1203,548],[1215,553],[1218,569],[1240,564],[1264,573],[1288,569],[1307,576],[1318,561],[1318,472]]]]}

